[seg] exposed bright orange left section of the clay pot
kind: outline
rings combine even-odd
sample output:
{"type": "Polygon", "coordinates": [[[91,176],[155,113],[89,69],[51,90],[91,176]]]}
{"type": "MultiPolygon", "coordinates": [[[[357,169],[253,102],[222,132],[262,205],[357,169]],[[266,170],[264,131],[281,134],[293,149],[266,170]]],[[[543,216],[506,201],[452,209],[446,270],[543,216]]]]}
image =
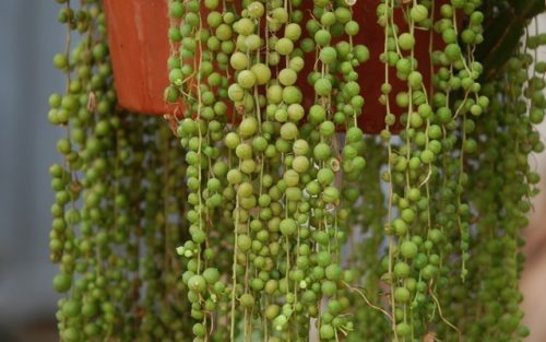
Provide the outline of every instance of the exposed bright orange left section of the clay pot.
{"type": "Polygon", "coordinates": [[[105,0],[114,80],[119,104],[163,115],[168,85],[167,0],[105,0]]]}

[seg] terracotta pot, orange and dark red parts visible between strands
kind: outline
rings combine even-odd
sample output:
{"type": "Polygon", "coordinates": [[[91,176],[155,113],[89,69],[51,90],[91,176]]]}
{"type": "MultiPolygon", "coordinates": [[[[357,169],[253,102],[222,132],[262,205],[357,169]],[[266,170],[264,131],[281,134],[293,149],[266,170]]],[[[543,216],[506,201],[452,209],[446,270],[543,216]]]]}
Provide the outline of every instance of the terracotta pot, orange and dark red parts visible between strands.
{"type": "MultiPolygon", "coordinates": [[[[439,1],[440,4],[449,0],[439,1]]],[[[168,85],[167,58],[169,25],[167,0],[105,0],[104,10],[108,24],[108,39],[114,68],[115,86],[119,104],[132,111],[164,115],[183,110],[183,104],[167,105],[163,94],[168,85]]],[[[311,1],[305,1],[304,8],[310,8],[311,1]]],[[[379,103],[381,84],[384,82],[384,64],[379,60],[383,51],[384,31],[377,23],[376,7],[379,0],[359,1],[353,7],[354,17],[360,24],[355,44],[365,44],[370,50],[370,59],[361,64],[359,83],[366,104],[358,119],[360,128],[368,133],[379,133],[384,128],[385,107],[379,103]]],[[[439,8],[439,5],[437,7],[439,8]]],[[[307,12],[307,11],[306,11],[307,12]]],[[[395,22],[402,31],[407,30],[401,11],[396,11],[395,22]]],[[[430,34],[427,31],[415,32],[415,58],[419,61],[419,71],[428,89],[430,80],[430,56],[428,52],[430,34]]],[[[434,42],[441,48],[441,39],[434,42]]],[[[306,61],[307,73],[314,60],[306,61]]],[[[407,85],[390,70],[393,94],[404,91],[407,85]]],[[[313,94],[306,78],[299,78],[298,86],[304,94],[313,94]]],[[[304,105],[309,107],[313,96],[306,96],[304,105]]],[[[399,116],[403,110],[391,101],[391,111],[399,116]]],[[[396,127],[394,128],[396,130],[396,127]]]]}

